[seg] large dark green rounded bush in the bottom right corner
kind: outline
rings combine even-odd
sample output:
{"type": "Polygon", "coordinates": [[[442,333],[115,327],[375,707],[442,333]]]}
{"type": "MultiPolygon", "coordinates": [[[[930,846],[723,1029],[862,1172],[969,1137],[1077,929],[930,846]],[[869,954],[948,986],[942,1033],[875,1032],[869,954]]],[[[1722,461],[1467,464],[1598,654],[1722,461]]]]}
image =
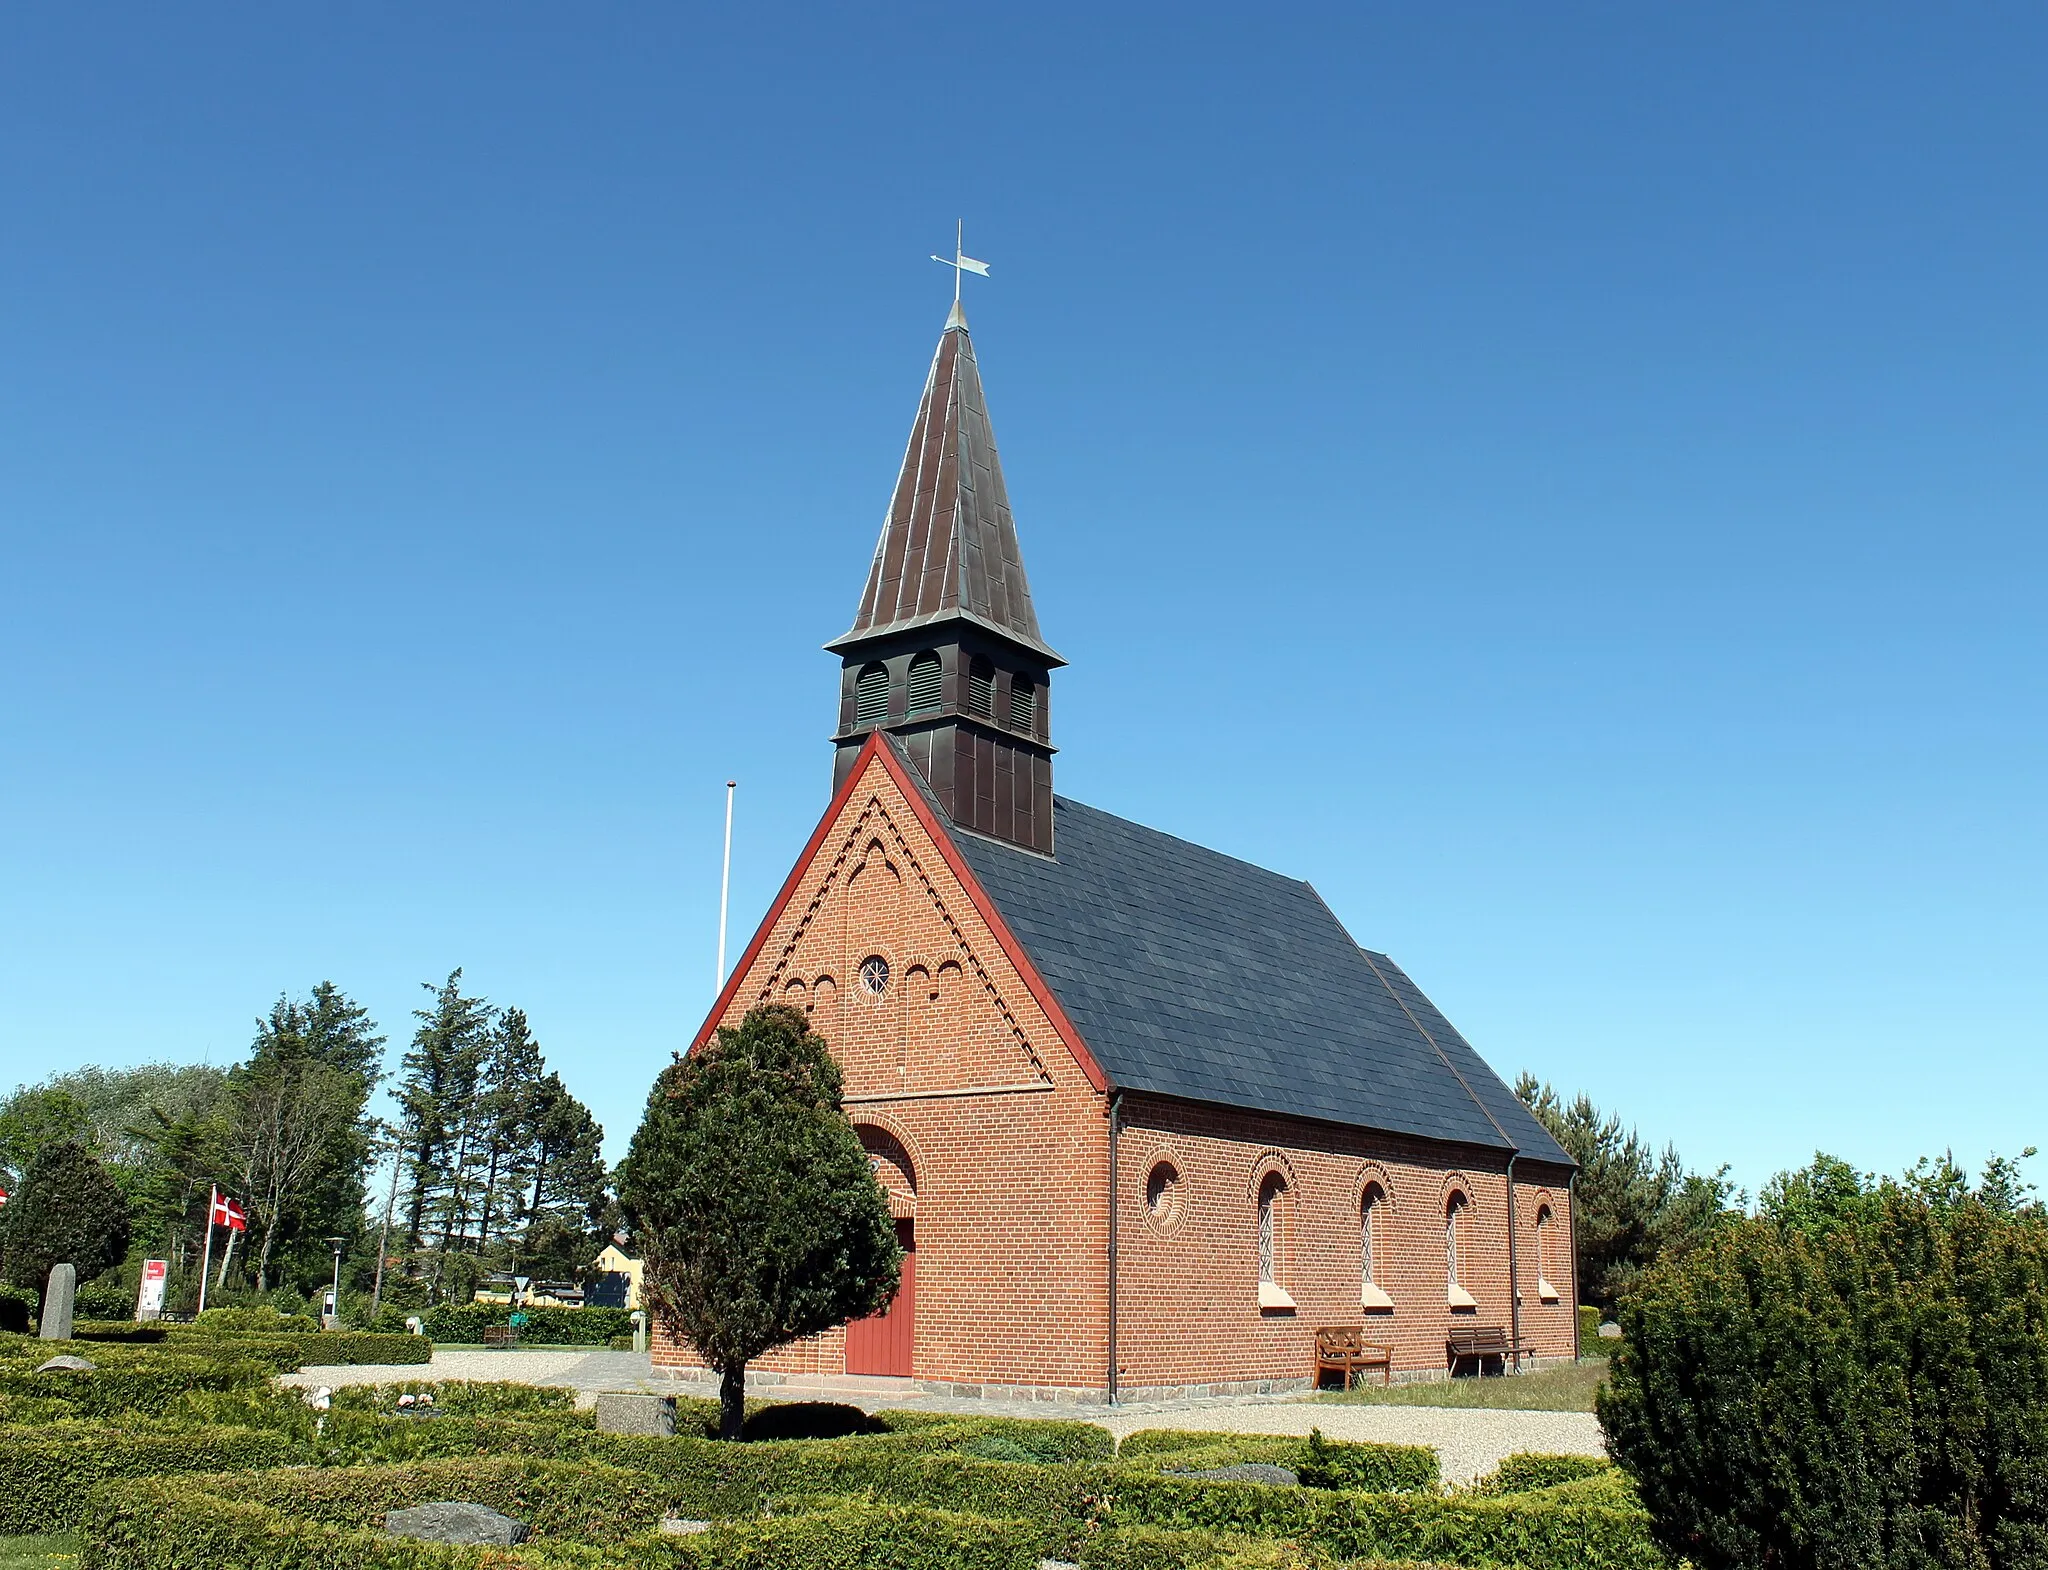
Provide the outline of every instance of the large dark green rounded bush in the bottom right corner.
{"type": "Polygon", "coordinates": [[[1886,1185],[1751,1220],[1620,1304],[1608,1445],[1724,1566],[2048,1564],[2048,1224],[1886,1185]]]}

